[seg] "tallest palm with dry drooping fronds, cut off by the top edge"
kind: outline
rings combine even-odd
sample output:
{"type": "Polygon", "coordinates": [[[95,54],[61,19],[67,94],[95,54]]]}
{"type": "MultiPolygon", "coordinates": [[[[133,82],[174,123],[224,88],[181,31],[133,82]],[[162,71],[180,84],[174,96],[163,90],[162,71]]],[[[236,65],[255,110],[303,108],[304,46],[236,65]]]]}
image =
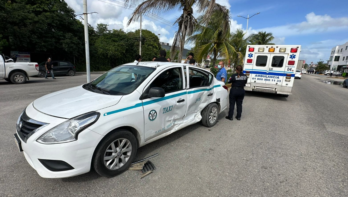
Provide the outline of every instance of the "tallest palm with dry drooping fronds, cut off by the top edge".
{"type": "Polygon", "coordinates": [[[164,13],[168,10],[183,10],[182,15],[176,19],[173,25],[177,24],[178,30],[175,32],[173,45],[171,47],[171,57],[174,57],[176,47],[179,47],[179,59],[182,57],[185,38],[192,35],[195,31],[197,20],[193,17],[193,6],[197,6],[203,14],[203,23],[207,24],[215,10],[224,11],[226,8],[219,5],[215,0],[125,0],[127,4],[139,5],[134,10],[128,25],[137,20],[142,13],[150,11],[155,14],[164,13]]]}

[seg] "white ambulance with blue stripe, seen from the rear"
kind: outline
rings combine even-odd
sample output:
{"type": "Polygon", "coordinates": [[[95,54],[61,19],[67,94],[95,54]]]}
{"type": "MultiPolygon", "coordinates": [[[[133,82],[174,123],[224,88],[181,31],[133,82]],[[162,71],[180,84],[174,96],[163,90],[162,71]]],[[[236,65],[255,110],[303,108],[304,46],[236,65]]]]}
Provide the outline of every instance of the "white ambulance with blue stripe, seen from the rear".
{"type": "Polygon", "coordinates": [[[244,89],[292,95],[300,51],[300,45],[248,45],[243,69],[248,82],[244,89]]]}

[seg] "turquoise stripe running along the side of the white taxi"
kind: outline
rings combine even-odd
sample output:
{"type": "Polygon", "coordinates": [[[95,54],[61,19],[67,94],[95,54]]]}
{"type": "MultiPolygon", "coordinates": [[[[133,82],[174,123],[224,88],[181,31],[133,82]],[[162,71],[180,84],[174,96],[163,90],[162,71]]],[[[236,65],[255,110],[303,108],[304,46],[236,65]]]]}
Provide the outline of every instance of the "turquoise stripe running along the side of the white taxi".
{"type": "Polygon", "coordinates": [[[221,85],[214,85],[212,88],[192,90],[192,91],[188,91],[188,92],[180,92],[180,93],[177,93],[177,94],[174,94],[174,95],[171,95],[171,96],[166,96],[166,97],[163,97],[163,98],[158,98],[158,99],[154,99],[154,100],[145,101],[143,103],[140,102],[140,103],[137,103],[137,104],[135,104],[133,106],[129,106],[129,107],[125,107],[125,108],[122,108],[122,109],[117,109],[117,110],[114,110],[114,111],[111,111],[111,112],[104,113],[104,116],[115,114],[115,113],[118,113],[118,112],[123,112],[123,111],[126,111],[128,109],[134,109],[134,108],[137,108],[137,107],[141,107],[143,105],[144,106],[145,105],[150,105],[150,104],[153,104],[155,102],[160,102],[160,101],[163,101],[163,100],[179,97],[179,96],[186,95],[186,94],[189,95],[189,94],[193,94],[193,93],[196,93],[196,92],[210,91],[210,90],[212,90],[214,88],[217,88],[217,87],[221,87],[221,85]]]}

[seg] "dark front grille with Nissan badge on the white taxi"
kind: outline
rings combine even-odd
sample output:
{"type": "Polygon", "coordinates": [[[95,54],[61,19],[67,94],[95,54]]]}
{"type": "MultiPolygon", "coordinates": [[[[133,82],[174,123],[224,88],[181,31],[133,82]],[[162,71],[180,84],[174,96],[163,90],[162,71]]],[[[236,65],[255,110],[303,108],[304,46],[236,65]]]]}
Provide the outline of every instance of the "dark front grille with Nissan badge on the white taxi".
{"type": "Polygon", "coordinates": [[[21,121],[17,125],[18,136],[26,142],[26,140],[33,134],[33,131],[46,123],[32,120],[24,112],[21,116],[21,121]]]}

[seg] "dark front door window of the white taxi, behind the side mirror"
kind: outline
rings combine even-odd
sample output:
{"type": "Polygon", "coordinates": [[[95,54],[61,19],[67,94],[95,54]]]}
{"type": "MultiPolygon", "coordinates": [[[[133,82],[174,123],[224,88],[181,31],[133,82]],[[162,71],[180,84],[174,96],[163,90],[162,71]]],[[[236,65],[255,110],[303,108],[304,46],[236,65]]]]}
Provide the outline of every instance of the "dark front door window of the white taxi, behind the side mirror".
{"type": "Polygon", "coordinates": [[[154,87],[163,88],[165,93],[183,90],[181,67],[171,68],[162,72],[155,80],[153,80],[147,90],[154,87]]]}

